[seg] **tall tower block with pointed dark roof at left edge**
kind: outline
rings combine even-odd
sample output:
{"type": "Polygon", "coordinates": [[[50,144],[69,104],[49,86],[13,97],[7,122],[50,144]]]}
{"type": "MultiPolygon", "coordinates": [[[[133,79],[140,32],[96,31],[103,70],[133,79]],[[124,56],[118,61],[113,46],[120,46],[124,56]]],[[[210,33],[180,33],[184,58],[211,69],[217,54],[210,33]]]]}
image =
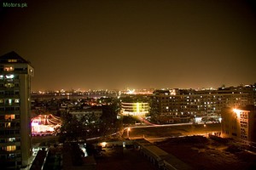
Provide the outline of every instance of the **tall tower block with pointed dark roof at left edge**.
{"type": "Polygon", "coordinates": [[[20,169],[30,163],[32,65],[15,52],[0,57],[0,164],[20,169]]]}

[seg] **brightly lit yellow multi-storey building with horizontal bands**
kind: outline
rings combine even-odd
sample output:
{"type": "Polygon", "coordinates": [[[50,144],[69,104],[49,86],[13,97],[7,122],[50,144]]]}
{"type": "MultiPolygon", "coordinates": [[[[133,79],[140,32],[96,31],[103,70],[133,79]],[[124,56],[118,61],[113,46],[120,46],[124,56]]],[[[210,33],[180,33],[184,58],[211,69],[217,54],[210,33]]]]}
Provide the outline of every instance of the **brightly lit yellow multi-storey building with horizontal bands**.
{"type": "Polygon", "coordinates": [[[121,114],[125,116],[146,116],[149,105],[147,102],[122,102],[121,114]]]}

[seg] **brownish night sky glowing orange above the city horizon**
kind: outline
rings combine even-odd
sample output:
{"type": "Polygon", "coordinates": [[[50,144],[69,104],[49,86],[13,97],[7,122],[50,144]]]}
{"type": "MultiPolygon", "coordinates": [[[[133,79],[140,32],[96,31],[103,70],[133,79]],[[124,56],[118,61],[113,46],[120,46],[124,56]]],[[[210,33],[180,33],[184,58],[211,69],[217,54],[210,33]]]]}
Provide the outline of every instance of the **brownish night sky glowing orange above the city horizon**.
{"type": "Polygon", "coordinates": [[[1,0],[0,55],[32,62],[32,90],[252,84],[252,2],[1,0]]]}

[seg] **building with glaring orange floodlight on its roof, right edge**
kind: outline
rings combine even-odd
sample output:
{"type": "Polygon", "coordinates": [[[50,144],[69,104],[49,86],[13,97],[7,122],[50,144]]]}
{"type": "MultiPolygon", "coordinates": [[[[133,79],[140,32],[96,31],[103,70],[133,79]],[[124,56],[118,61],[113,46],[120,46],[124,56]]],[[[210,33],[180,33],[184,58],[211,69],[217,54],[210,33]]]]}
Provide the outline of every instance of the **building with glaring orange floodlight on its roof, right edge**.
{"type": "Polygon", "coordinates": [[[256,106],[226,107],[221,112],[221,116],[222,137],[256,145],[256,106]]]}

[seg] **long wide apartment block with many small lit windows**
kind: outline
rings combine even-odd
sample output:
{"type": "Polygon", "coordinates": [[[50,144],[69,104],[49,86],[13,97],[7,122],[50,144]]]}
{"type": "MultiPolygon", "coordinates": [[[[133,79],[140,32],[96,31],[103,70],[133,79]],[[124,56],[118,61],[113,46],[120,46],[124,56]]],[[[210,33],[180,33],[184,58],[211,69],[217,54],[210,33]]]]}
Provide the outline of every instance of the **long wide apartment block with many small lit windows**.
{"type": "Polygon", "coordinates": [[[190,122],[196,116],[218,117],[226,106],[255,105],[255,85],[215,89],[155,90],[150,115],[158,123],[190,122]]]}

